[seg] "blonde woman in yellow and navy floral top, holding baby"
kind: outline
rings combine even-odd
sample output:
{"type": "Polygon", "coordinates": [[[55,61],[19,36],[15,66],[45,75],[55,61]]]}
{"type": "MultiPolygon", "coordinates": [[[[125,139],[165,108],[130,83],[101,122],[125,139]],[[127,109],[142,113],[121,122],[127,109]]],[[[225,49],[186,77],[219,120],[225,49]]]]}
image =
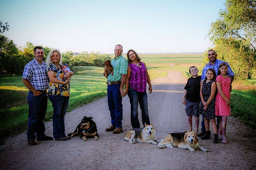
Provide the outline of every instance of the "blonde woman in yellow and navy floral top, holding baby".
{"type": "Polygon", "coordinates": [[[69,71],[64,76],[61,62],[60,51],[51,50],[46,59],[50,79],[47,94],[53,105],[53,137],[55,140],[68,140],[65,135],[64,116],[69,105],[69,81],[73,72],[69,71]]]}

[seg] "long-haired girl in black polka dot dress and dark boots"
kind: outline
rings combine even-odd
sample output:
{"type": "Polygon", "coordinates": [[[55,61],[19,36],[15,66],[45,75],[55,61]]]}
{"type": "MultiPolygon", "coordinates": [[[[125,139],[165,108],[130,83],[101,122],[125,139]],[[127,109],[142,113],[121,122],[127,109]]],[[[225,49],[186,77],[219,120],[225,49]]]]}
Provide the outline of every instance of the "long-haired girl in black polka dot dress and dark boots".
{"type": "Polygon", "coordinates": [[[215,92],[216,92],[216,73],[213,68],[206,71],[206,79],[202,81],[200,88],[201,102],[199,106],[199,114],[204,117],[205,135],[201,139],[210,139],[210,121],[213,128],[214,140],[213,143],[217,144],[218,132],[215,121],[215,92]]]}

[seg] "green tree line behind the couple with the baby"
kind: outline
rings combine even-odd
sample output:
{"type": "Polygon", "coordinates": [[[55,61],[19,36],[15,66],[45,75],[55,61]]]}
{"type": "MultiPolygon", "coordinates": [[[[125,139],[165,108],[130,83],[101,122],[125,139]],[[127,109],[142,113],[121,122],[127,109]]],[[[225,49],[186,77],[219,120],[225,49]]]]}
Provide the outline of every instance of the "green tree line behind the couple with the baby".
{"type": "MultiPolygon", "coordinates": [[[[4,35],[0,35],[0,74],[21,75],[24,66],[34,58],[34,47],[31,42],[27,42],[24,47],[17,47],[13,40],[9,40],[4,35]]],[[[41,45],[42,46],[42,45],[41,45]]],[[[45,59],[53,48],[45,47],[45,59]]],[[[110,55],[100,54],[99,52],[82,52],[73,55],[72,51],[62,53],[63,63],[73,66],[103,66],[105,60],[110,60],[110,55]]]]}

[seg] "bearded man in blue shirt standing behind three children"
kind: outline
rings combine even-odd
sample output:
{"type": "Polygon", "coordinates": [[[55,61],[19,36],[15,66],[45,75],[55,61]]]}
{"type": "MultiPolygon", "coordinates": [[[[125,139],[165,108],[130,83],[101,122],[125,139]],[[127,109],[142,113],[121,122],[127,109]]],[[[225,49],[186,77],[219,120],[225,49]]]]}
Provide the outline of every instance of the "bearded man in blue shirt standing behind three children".
{"type": "MultiPolygon", "coordinates": [[[[218,70],[219,70],[219,64],[222,63],[222,62],[226,62],[226,61],[222,61],[222,60],[218,60],[217,59],[217,53],[215,50],[208,50],[208,53],[207,53],[207,57],[209,59],[209,62],[206,63],[206,65],[203,67],[203,71],[202,71],[202,76],[201,76],[201,81],[203,81],[206,77],[206,71],[209,69],[209,68],[213,68],[216,72],[216,75],[218,73],[218,70]]],[[[227,62],[226,62],[227,63],[227,62]]],[[[228,64],[228,63],[227,63],[228,64]]],[[[229,66],[228,64],[228,72],[227,74],[229,75],[230,79],[231,79],[231,83],[232,81],[234,80],[234,72],[232,71],[231,67],[229,66]]],[[[231,91],[231,85],[230,85],[230,91],[231,91]]],[[[203,116],[202,116],[203,118],[203,116]]],[[[201,125],[202,125],[202,129],[201,129],[201,132],[200,133],[197,133],[197,136],[198,137],[202,137],[203,135],[205,135],[205,125],[204,125],[204,118],[201,122],[201,125]]],[[[217,118],[217,129],[219,129],[219,118],[217,118]]]]}

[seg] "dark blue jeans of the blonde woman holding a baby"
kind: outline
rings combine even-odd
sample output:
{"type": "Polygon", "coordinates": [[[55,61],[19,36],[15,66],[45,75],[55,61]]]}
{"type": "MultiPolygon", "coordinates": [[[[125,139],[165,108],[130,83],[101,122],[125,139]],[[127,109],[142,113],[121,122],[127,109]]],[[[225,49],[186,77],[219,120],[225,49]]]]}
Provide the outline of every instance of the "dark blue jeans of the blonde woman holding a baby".
{"type": "Polygon", "coordinates": [[[69,105],[69,96],[48,95],[53,105],[53,137],[60,139],[65,137],[64,117],[69,105]]]}

